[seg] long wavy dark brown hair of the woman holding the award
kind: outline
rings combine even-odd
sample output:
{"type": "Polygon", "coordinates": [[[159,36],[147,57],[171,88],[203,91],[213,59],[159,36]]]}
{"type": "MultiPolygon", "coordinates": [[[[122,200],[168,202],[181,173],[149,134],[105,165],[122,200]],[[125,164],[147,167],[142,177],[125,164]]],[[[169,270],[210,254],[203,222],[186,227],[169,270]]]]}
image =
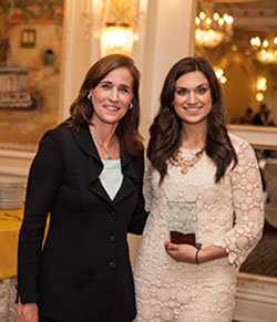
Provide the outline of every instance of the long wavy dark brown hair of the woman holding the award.
{"type": "Polygon", "coordinates": [[[205,152],[216,165],[215,183],[220,180],[232,162],[234,166],[237,163],[226,128],[222,87],[215,72],[204,58],[185,58],[170,70],[160,96],[160,111],[150,127],[147,157],[161,175],[160,184],[167,174],[168,162],[174,159],[181,144],[182,122],[172,104],[175,84],[182,75],[194,71],[206,76],[211,89],[213,107],[207,118],[205,152]]]}

